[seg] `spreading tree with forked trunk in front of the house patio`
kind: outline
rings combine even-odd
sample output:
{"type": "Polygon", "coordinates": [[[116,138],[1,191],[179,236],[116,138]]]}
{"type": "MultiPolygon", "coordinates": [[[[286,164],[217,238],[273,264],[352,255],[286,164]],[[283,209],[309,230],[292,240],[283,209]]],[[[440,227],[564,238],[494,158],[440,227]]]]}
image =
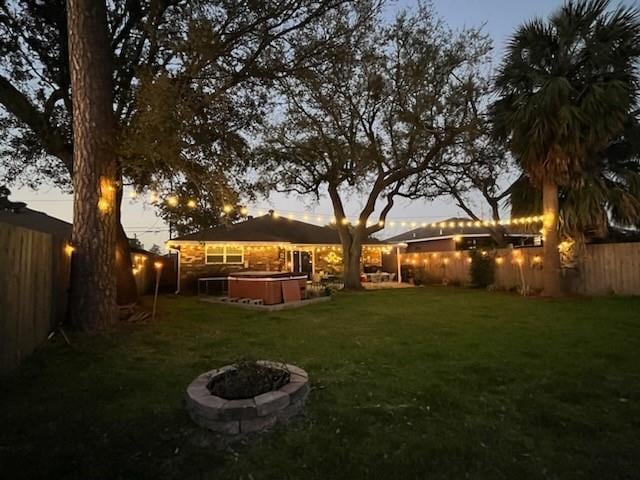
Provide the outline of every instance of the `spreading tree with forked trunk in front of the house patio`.
{"type": "Polygon", "coordinates": [[[259,155],[276,188],[328,194],[348,289],[362,288],[362,244],[384,228],[394,200],[417,194],[420,176],[444,168],[447,150],[474,135],[489,50],[484,36],[451,32],[426,5],[391,23],[371,12],[345,11],[316,33],[352,32],[281,80],[285,109],[259,155]],[[357,194],[364,206],[348,219],[345,198],[357,194]]]}

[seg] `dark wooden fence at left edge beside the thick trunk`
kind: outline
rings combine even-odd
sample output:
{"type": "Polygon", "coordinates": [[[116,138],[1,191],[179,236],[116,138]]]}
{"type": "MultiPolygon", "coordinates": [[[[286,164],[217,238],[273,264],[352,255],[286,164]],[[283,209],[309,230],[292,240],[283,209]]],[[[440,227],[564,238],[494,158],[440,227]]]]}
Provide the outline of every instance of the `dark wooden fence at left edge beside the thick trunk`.
{"type": "Polygon", "coordinates": [[[0,223],[0,373],[18,366],[63,320],[68,284],[64,241],[0,223]]]}

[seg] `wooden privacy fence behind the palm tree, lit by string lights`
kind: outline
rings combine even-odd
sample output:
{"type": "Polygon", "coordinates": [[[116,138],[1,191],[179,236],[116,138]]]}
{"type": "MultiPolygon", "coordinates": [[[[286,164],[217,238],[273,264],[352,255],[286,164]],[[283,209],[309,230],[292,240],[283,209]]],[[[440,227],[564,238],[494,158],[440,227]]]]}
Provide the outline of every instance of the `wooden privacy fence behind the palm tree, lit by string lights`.
{"type": "MultiPolygon", "coordinates": [[[[487,252],[495,258],[495,286],[499,289],[542,290],[544,257],[541,247],[499,249],[487,252]]],[[[468,252],[402,254],[405,275],[427,281],[469,284],[468,252]]],[[[586,245],[576,258],[575,268],[563,270],[565,284],[572,293],[582,295],[640,295],[640,243],[586,245]]]]}

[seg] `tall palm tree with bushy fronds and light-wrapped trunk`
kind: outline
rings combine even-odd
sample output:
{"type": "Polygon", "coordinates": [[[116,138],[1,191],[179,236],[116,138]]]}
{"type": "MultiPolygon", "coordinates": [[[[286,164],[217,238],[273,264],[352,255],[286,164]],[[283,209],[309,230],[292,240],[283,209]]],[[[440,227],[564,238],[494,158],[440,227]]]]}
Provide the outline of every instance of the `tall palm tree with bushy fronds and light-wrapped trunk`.
{"type": "Polygon", "coordinates": [[[636,103],[640,14],[609,0],[565,3],[507,45],[491,108],[495,131],[542,188],[544,294],[561,294],[558,188],[619,136],[636,103]]]}

